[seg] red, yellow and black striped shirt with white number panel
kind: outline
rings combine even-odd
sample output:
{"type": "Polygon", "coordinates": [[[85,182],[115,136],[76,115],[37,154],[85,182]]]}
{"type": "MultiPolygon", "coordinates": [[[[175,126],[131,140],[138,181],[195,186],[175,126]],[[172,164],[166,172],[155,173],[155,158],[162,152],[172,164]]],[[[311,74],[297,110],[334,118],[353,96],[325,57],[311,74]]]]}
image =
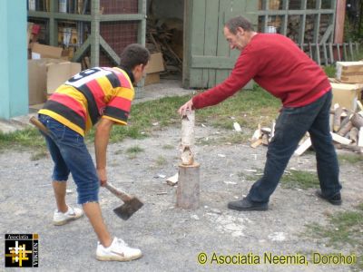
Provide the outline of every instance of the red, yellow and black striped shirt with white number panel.
{"type": "Polygon", "coordinates": [[[133,97],[126,72],[117,67],[93,67],[58,87],[39,113],[84,136],[101,117],[127,124],[133,97]]]}

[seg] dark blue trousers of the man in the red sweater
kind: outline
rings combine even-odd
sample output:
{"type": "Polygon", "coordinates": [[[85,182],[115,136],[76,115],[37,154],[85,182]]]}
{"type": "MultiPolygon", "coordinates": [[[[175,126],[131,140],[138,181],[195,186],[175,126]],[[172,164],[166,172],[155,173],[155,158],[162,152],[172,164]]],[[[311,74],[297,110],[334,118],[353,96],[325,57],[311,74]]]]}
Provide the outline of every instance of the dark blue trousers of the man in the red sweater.
{"type": "Polygon", "coordinates": [[[307,106],[282,109],[267,151],[263,176],[252,185],[248,199],[255,202],[269,201],[306,131],[309,131],[316,152],[322,194],[328,198],[338,194],[341,189],[338,159],[329,132],[331,98],[331,92],[327,92],[307,106]]]}

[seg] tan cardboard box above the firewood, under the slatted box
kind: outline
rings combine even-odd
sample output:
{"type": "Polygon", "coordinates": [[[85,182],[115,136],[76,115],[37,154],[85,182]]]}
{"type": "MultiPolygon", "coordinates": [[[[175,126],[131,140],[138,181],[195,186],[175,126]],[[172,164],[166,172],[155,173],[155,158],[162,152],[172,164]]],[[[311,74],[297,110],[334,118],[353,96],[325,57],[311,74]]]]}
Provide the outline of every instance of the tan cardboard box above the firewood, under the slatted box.
{"type": "Polygon", "coordinates": [[[362,100],[363,84],[330,83],[333,92],[331,105],[338,103],[349,111],[356,111],[357,101],[362,100]]]}

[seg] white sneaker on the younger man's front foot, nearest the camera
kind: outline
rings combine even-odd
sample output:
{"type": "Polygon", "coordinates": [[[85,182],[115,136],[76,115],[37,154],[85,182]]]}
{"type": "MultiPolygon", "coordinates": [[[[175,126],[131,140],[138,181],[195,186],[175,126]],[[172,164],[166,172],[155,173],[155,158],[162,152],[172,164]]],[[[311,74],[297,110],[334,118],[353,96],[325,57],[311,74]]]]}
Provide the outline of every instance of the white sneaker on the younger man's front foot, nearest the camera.
{"type": "Polygon", "coordinates": [[[113,238],[113,243],[110,247],[104,248],[98,242],[96,258],[98,260],[116,260],[116,261],[130,261],[142,257],[142,251],[139,248],[130,248],[123,239],[113,238]]]}

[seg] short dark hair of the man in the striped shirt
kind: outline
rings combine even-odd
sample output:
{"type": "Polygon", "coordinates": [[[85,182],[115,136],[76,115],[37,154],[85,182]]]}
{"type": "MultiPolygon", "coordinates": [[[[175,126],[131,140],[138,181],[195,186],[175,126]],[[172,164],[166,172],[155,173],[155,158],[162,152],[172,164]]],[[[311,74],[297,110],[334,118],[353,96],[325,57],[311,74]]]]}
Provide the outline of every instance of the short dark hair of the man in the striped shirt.
{"type": "Polygon", "coordinates": [[[123,49],[123,53],[120,55],[119,65],[130,71],[135,68],[136,65],[146,65],[150,60],[150,52],[142,46],[142,44],[129,44],[123,49]]]}

